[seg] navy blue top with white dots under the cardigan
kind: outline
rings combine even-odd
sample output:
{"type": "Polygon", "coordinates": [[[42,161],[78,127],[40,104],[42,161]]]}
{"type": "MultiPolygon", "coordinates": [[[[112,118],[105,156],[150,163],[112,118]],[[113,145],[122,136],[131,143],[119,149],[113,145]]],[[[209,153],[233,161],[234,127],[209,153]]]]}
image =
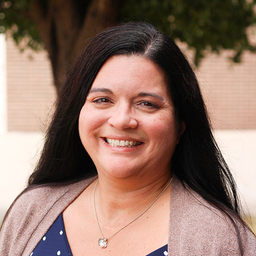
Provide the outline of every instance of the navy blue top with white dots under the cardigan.
{"type": "MultiPolygon", "coordinates": [[[[73,256],[67,239],[62,213],[58,216],[30,256],[73,256]]],[[[146,256],[166,256],[167,244],[146,256]]]]}

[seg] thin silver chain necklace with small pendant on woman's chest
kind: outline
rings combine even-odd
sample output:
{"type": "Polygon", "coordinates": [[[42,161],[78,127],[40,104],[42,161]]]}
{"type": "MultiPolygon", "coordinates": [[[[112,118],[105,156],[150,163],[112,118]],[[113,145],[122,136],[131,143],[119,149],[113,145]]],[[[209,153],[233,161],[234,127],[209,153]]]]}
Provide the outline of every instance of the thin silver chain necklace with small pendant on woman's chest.
{"type": "Polygon", "coordinates": [[[138,218],[140,218],[141,215],[143,215],[156,201],[157,199],[164,193],[164,191],[166,190],[166,188],[169,186],[170,182],[172,182],[173,178],[170,179],[170,181],[168,182],[168,184],[166,185],[166,187],[163,189],[163,191],[157,196],[157,198],[150,204],[146,207],[146,209],[141,212],[140,215],[138,215],[136,218],[134,218],[132,221],[130,221],[129,223],[127,223],[126,225],[124,225],[123,227],[119,228],[115,233],[113,233],[110,237],[108,238],[104,238],[102,232],[101,232],[101,229],[99,227],[99,222],[98,222],[98,217],[97,217],[97,213],[96,213],[96,207],[95,207],[95,190],[96,190],[96,187],[97,187],[97,184],[98,184],[98,181],[99,179],[96,181],[96,184],[95,184],[95,187],[94,187],[94,191],[93,191],[93,206],[94,206],[94,213],[95,213],[95,218],[96,218],[96,222],[97,222],[97,225],[98,225],[98,228],[99,228],[99,231],[100,231],[100,234],[101,234],[101,238],[98,239],[98,244],[101,248],[106,248],[107,244],[108,244],[108,240],[110,238],[112,238],[116,233],[118,233],[119,231],[121,231],[123,228],[127,227],[128,225],[130,225],[131,223],[133,223],[134,221],[136,221],[138,218]]]}

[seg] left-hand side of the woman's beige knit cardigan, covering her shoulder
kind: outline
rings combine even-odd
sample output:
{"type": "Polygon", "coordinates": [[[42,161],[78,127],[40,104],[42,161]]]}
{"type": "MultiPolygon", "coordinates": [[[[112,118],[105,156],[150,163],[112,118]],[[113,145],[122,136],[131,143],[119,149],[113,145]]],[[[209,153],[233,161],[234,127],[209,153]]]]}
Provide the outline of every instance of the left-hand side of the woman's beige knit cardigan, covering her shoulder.
{"type": "Polygon", "coordinates": [[[29,243],[35,246],[58,215],[94,179],[69,185],[38,185],[25,190],[7,212],[0,231],[0,255],[23,251],[29,243]]]}

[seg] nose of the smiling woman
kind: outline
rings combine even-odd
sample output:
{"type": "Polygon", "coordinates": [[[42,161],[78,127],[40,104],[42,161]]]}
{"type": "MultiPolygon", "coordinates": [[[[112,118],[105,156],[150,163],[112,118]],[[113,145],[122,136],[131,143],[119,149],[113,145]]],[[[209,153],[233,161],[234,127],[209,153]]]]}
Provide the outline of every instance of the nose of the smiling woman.
{"type": "Polygon", "coordinates": [[[135,129],[138,122],[131,112],[129,105],[118,106],[117,109],[113,110],[108,123],[118,130],[135,129]]]}

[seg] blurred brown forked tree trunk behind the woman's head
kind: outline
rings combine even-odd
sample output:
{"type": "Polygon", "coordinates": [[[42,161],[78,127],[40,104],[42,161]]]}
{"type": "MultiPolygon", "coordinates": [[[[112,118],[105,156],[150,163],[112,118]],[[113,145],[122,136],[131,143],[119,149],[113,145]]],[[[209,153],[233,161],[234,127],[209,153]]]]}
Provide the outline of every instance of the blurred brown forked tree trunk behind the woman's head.
{"type": "Polygon", "coordinates": [[[93,35],[113,24],[118,0],[43,0],[31,3],[29,15],[35,22],[52,65],[57,95],[75,61],[93,35]]]}

